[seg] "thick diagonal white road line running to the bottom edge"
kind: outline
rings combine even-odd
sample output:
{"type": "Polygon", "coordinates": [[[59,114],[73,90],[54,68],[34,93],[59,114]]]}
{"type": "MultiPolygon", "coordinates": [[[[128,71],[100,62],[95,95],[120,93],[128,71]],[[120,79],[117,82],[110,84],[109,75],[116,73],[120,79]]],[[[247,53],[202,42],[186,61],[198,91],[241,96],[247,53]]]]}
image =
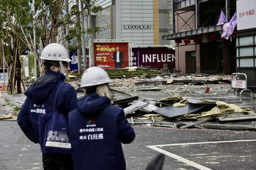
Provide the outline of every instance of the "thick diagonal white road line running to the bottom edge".
{"type": "Polygon", "coordinates": [[[156,150],[156,151],[158,151],[158,152],[161,152],[161,153],[163,153],[163,154],[165,154],[165,155],[167,155],[167,156],[173,157],[173,158],[175,158],[176,160],[182,161],[182,162],[184,162],[184,163],[186,163],[186,164],[189,164],[190,166],[193,166],[193,167],[195,167],[195,168],[202,169],[202,170],[211,170],[210,168],[204,167],[204,166],[202,166],[201,164],[197,164],[197,163],[192,162],[192,161],[190,161],[190,160],[187,160],[187,159],[185,159],[185,158],[183,158],[183,157],[181,157],[181,156],[178,156],[178,155],[175,155],[175,154],[173,154],[173,153],[170,153],[170,152],[167,152],[167,151],[165,151],[165,150],[162,150],[161,148],[158,148],[158,147],[156,147],[156,146],[147,146],[147,147],[151,148],[152,150],[156,150]]]}

